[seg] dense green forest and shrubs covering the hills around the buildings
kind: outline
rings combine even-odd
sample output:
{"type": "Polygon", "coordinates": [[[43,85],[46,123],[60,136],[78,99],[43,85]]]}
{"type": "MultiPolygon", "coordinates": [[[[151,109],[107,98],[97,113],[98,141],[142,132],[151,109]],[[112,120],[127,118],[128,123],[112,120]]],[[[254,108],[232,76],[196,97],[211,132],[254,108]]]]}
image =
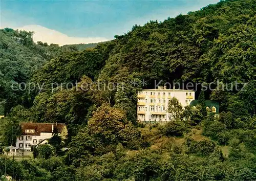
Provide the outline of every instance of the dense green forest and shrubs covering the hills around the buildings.
{"type": "MultiPolygon", "coordinates": [[[[69,129],[57,144],[65,154],[53,151],[54,143],[35,150],[36,159],[7,159],[16,180],[256,179],[255,0],[221,1],[89,46],[34,43],[31,32],[4,29],[0,51],[0,146],[14,144],[20,122],[69,129]],[[142,80],[144,86],[131,83],[142,80]],[[200,105],[180,110],[174,122],[138,124],[137,91],[155,80],[225,84],[199,87],[200,105]],[[124,88],[82,88],[97,81],[124,88]],[[44,86],[14,91],[13,82],[44,86]],[[220,103],[219,117],[206,112],[203,99],[220,103]]],[[[2,175],[5,162],[1,156],[2,175]]]]}

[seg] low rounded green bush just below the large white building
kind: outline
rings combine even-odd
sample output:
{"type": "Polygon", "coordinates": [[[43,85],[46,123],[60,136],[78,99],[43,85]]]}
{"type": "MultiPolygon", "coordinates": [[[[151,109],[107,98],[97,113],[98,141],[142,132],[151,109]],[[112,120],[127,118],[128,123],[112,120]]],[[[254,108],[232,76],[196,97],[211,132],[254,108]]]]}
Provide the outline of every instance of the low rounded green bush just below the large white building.
{"type": "Polygon", "coordinates": [[[158,127],[158,132],[165,136],[181,136],[187,131],[186,124],[182,121],[170,121],[158,127]]]}

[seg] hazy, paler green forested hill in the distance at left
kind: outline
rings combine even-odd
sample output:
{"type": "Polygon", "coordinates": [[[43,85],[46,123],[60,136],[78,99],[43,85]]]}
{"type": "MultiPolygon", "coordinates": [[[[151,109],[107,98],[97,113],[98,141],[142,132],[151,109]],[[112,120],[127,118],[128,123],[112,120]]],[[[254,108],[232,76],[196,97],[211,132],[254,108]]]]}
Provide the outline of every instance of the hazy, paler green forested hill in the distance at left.
{"type": "MultiPolygon", "coordinates": [[[[92,48],[97,44],[59,47],[57,44],[35,43],[32,36],[32,32],[9,28],[0,30],[0,115],[6,114],[17,104],[26,104],[24,92],[14,92],[11,89],[12,83],[28,83],[36,70],[41,69],[42,65],[52,58],[92,48]]],[[[25,85],[22,85],[24,89],[25,85]]]]}

